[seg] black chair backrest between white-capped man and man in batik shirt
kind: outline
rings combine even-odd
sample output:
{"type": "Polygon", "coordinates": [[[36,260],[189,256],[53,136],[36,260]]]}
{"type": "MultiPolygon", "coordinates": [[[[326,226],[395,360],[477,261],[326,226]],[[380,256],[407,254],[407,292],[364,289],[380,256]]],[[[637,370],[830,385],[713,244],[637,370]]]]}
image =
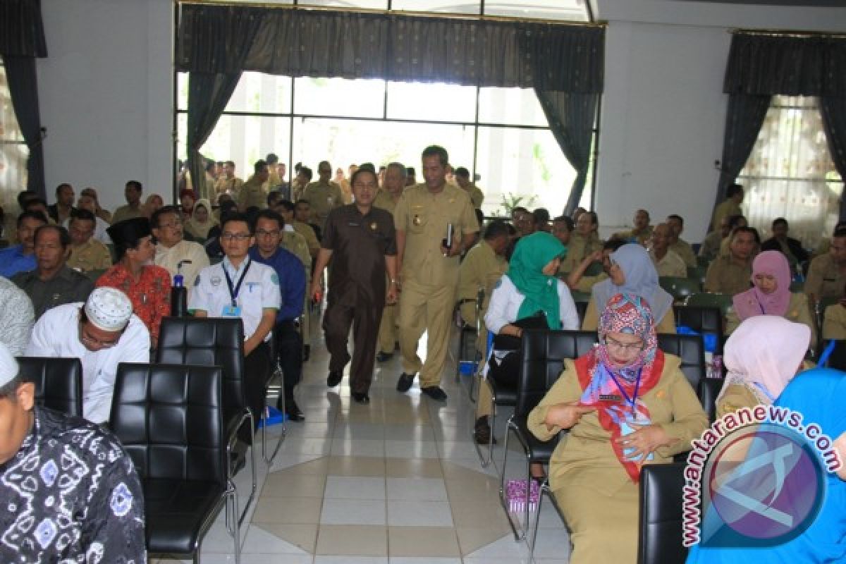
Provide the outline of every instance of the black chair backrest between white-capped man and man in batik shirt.
{"type": "Polygon", "coordinates": [[[82,417],[80,359],[18,357],[20,373],[36,384],[36,405],[82,417]]]}

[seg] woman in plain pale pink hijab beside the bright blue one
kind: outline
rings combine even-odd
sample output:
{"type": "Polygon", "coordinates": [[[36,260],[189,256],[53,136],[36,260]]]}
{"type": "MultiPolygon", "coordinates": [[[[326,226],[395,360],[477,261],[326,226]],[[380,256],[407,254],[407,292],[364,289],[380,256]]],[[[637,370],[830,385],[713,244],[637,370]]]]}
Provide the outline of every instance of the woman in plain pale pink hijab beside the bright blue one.
{"type": "Polygon", "coordinates": [[[724,349],[727,374],[717,396],[717,417],[774,402],[802,370],[810,335],[807,326],[777,315],[755,315],[741,323],[724,349]]]}

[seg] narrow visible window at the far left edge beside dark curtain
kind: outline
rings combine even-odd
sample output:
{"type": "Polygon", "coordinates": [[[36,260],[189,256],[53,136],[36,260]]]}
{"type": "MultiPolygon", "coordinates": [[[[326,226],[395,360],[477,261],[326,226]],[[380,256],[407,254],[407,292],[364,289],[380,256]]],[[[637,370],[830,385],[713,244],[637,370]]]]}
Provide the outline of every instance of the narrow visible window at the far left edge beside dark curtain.
{"type": "Polygon", "coordinates": [[[26,188],[26,160],[29,156],[30,150],[24,143],[18,118],[14,115],[6,68],[0,63],[0,206],[6,215],[2,226],[3,238],[10,232],[8,227],[14,225],[18,211],[15,198],[20,190],[26,188]]]}

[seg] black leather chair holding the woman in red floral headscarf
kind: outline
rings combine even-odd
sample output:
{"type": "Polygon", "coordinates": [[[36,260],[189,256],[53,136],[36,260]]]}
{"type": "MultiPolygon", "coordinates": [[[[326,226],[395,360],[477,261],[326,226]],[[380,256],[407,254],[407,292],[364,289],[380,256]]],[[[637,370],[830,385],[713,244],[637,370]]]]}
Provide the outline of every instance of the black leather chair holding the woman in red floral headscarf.
{"type": "Polygon", "coordinates": [[[508,438],[514,435],[523,447],[526,462],[526,491],[531,481],[530,467],[533,463],[548,464],[552,451],[558,445],[558,438],[539,441],[528,427],[529,413],[547,395],[552,384],[563,370],[563,359],[575,359],[587,353],[596,344],[596,331],[547,331],[527,329],[521,341],[521,364],[519,386],[514,404],[514,415],[508,419],[503,450],[503,469],[500,473],[499,500],[503,504],[514,539],[524,539],[529,530],[529,504],[525,504],[523,527],[518,531],[508,511],[505,492],[505,468],[508,464],[508,438]]]}

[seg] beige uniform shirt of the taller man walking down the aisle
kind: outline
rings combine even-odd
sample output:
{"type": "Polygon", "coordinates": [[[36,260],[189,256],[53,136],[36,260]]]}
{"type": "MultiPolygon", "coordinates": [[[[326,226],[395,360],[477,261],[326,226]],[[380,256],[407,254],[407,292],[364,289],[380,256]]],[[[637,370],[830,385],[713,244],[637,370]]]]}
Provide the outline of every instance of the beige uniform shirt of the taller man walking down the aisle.
{"type": "Polygon", "coordinates": [[[444,185],[432,194],[425,183],[405,189],[393,211],[393,223],[405,233],[403,277],[420,284],[443,286],[459,278],[459,257],[445,257],[441,242],[452,224],[456,241],[479,232],[470,197],[460,188],[444,185]]]}

